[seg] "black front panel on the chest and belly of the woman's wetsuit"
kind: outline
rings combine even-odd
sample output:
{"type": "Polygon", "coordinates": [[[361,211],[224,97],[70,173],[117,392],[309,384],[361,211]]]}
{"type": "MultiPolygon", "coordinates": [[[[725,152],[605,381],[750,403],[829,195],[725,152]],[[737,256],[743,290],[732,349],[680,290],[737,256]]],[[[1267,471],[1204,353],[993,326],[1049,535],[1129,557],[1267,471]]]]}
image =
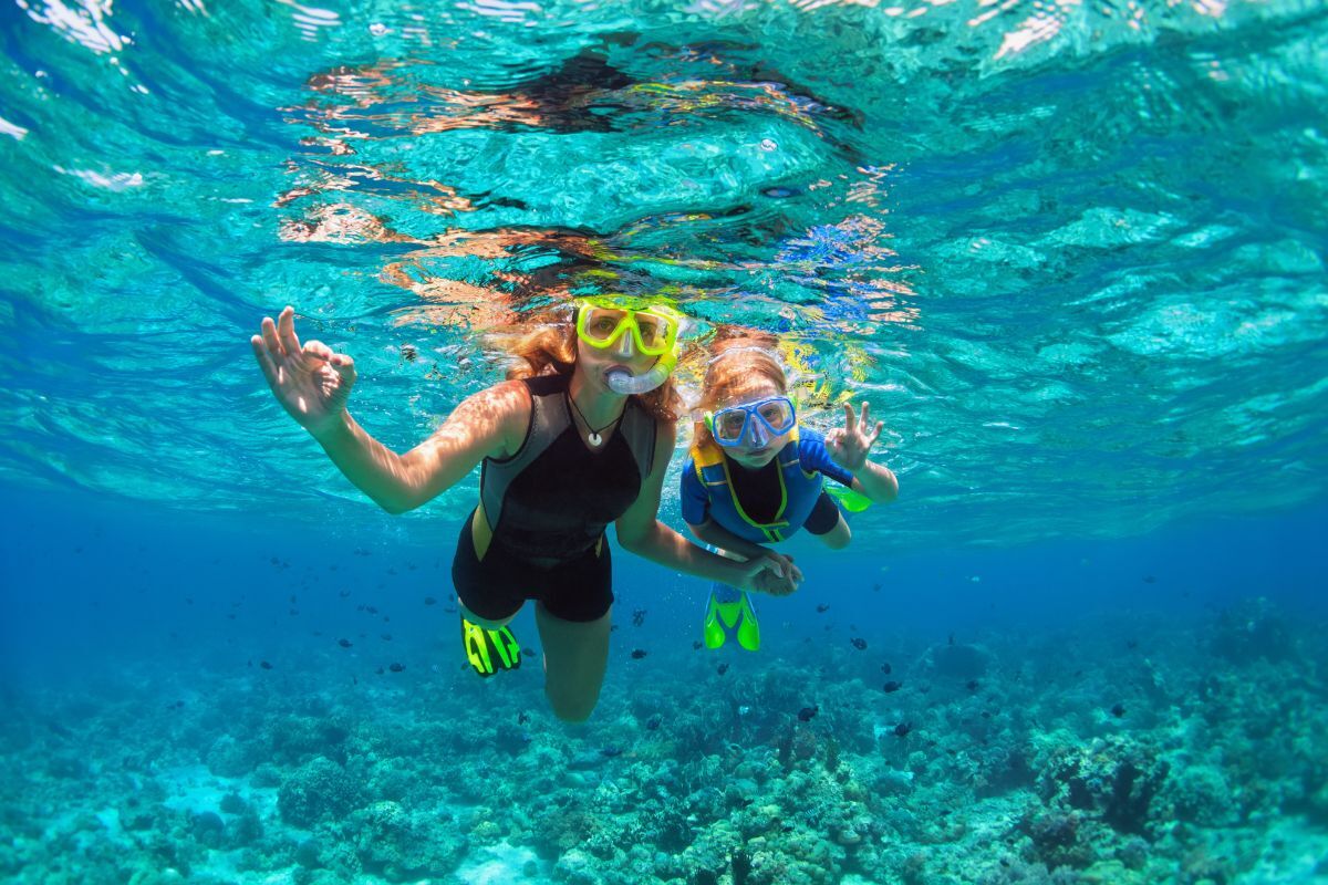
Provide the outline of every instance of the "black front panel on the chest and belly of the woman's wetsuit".
{"type": "Polygon", "coordinates": [[[627,512],[640,487],[636,458],[622,433],[596,454],[568,423],[507,486],[493,543],[499,555],[574,559],[627,512]]]}

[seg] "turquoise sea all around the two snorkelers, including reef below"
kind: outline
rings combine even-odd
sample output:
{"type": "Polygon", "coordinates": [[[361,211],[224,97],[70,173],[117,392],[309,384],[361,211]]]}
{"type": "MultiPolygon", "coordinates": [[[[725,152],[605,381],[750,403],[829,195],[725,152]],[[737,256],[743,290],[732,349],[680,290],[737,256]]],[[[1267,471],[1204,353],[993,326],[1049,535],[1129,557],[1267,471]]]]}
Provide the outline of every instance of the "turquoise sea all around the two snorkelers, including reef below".
{"type": "Polygon", "coordinates": [[[20,0],[0,49],[0,877],[1325,881],[1323,4],[20,0]],[[619,556],[568,727],[461,669],[478,475],[382,513],[247,338],[295,305],[402,451],[604,289],[798,345],[902,494],[754,655],[619,556]]]}

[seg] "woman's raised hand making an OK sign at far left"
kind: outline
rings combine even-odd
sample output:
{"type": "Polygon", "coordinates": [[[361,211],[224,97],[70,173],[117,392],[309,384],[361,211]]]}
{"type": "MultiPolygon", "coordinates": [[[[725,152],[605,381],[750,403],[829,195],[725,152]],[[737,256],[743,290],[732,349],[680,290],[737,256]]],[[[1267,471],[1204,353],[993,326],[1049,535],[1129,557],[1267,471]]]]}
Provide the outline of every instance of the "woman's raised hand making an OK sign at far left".
{"type": "Polygon", "coordinates": [[[295,308],[282,310],[276,322],[263,317],[263,334],[250,344],[276,401],[301,427],[317,435],[341,418],[355,385],[355,361],[321,341],[301,348],[295,308]]]}

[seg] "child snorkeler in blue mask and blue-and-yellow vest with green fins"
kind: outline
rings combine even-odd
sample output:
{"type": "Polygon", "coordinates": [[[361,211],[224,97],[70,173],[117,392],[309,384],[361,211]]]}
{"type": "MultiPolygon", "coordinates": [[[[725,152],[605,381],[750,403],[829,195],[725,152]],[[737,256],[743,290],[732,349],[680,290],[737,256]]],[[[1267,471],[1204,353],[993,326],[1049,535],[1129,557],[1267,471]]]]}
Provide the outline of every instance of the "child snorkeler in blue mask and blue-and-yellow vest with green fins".
{"type": "MultiPolygon", "coordinates": [[[[772,336],[729,338],[713,346],[705,372],[692,456],[683,470],[683,520],[703,541],[744,559],[806,528],[830,549],[851,539],[842,506],[862,511],[899,495],[899,480],[867,460],[880,437],[867,403],[861,415],[845,403],[845,426],[822,437],[798,425],[772,336]],[[823,478],[842,488],[827,490],[823,478]],[[834,496],[831,496],[834,495],[834,496]]],[[[749,651],[761,626],[748,593],[722,581],[710,586],[703,625],[705,645],[730,636],[749,651]]]]}

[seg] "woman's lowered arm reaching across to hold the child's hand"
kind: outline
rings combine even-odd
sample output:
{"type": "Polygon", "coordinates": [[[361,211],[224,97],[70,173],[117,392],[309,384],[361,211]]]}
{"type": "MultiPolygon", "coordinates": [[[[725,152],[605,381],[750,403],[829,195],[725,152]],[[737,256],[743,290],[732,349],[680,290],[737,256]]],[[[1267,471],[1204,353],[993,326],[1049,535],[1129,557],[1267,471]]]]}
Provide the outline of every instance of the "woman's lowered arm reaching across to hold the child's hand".
{"type": "MultiPolygon", "coordinates": [[[[742,589],[768,589],[764,584],[761,586],[756,584],[756,575],[761,569],[753,568],[749,563],[716,556],[659,521],[664,475],[668,472],[676,442],[677,425],[660,422],[655,437],[655,463],[651,464],[649,476],[641,482],[641,492],[636,496],[636,502],[616,523],[618,543],[625,551],[688,575],[742,589]]],[[[765,552],[761,548],[762,559],[765,552]]],[[[788,589],[791,592],[791,581],[788,589]]]]}

